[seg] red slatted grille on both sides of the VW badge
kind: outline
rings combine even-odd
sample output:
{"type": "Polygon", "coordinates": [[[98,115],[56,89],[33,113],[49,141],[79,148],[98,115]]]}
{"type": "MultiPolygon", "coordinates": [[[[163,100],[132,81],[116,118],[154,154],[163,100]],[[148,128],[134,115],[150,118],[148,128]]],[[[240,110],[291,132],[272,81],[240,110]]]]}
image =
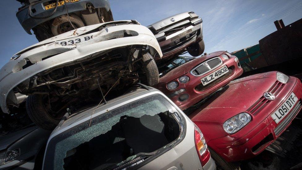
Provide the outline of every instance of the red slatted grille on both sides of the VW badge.
{"type": "MultiPolygon", "coordinates": [[[[279,92],[283,89],[285,84],[276,81],[272,87],[268,90],[268,92],[274,94],[274,96],[277,96],[279,92]]],[[[248,108],[248,112],[250,112],[252,115],[256,115],[259,111],[265,108],[265,106],[270,103],[270,100],[265,99],[263,96],[257,102],[255,102],[250,108],[248,108]]]]}

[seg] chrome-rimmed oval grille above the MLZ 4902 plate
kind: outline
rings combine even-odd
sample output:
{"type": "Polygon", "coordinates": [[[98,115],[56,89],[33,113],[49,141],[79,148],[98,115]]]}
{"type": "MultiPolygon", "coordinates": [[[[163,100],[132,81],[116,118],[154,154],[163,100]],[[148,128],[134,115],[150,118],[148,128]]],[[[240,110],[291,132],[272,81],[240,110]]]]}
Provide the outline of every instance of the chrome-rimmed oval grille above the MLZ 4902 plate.
{"type": "Polygon", "coordinates": [[[201,76],[201,75],[213,70],[214,68],[218,67],[220,64],[222,64],[222,60],[219,57],[210,59],[204,63],[201,63],[197,67],[193,68],[190,73],[193,76],[201,76]]]}

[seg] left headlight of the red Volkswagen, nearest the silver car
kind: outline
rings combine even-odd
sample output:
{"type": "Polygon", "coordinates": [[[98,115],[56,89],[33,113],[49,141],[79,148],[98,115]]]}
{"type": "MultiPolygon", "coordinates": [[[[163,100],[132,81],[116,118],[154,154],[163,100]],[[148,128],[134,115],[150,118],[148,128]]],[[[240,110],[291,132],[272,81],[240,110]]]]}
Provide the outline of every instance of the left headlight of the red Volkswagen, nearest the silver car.
{"type": "Polygon", "coordinates": [[[251,121],[251,116],[248,113],[240,113],[223,123],[223,129],[226,133],[233,134],[243,128],[251,121]]]}

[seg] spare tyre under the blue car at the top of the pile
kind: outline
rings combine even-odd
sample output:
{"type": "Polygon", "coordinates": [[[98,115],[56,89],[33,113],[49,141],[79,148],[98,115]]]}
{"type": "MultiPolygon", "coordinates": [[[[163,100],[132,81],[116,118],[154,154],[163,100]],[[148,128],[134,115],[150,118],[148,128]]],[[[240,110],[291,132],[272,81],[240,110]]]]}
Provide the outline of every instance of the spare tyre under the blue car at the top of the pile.
{"type": "MultiPolygon", "coordinates": [[[[85,24],[83,22],[83,20],[77,16],[77,15],[69,15],[70,21],[71,23],[76,27],[76,28],[81,28],[84,27],[85,24]]],[[[70,25],[69,19],[67,15],[62,15],[59,16],[57,18],[54,19],[53,23],[51,24],[51,32],[54,34],[54,36],[65,33],[67,31],[73,30],[74,28],[72,28],[72,26],[70,25]],[[62,26],[62,24],[69,24],[68,29],[64,28],[60,28],[60,25],[62,26]]]]}

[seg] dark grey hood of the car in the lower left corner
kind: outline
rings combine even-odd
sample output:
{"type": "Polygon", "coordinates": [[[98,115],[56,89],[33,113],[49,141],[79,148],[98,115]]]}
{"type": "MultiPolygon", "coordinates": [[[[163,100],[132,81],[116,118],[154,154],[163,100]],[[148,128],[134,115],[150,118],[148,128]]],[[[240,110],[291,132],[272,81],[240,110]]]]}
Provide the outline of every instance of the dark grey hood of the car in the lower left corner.
{"type": "Polygon", "coordinates": [[[38,128],[37,126],[31,126],[31,127],[28,127],[28,128],[18,130],[18,131],[13,132],[13,133],[9,133],[7,135],[2,135],[0,137],[0,150],[6,149],[8,146],[15,143],[21,137],[27,135],[28,133],[32,132],[33,130],[35,130],[37,128],[38,128]]]}

